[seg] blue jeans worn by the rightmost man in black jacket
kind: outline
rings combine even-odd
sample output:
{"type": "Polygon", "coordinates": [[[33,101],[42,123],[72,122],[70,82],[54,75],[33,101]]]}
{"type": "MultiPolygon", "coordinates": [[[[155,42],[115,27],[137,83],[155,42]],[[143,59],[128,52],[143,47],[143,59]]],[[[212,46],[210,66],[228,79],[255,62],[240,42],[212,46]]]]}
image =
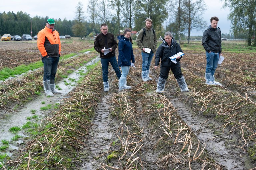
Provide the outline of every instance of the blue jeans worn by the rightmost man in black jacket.
{"type": "Polygon", "coordinates": [[[218,66],[218,61],[219,61],[219,53],[208,53],[206,52],[206,73],[211,73],[212,76],[215,73],[215,70],[218,66]]]}

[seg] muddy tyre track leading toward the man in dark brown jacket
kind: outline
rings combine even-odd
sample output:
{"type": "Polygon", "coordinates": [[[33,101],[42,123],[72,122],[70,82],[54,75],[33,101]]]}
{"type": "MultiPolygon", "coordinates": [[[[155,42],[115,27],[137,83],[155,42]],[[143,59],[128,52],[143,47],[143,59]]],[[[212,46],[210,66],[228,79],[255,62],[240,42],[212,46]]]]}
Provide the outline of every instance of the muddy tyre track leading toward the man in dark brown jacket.
{"type": "Polygon", "coordinates": [[[104,94],[101,103],[98,105],[98,109],[95,112],[95,116],[92,120],[93,126],[89,130],[89,134],[86,141],[87,147],[80,153],[81,160],[83,161],[81,170],[92,170],[100,168],[100,165],[96,162],[104,162],[107,157],[101,156],[107,153],[112,143],[112,138],[115,136],[114,124],[111,125],[110,119],[110,105],[108,104],[110,94],[104,94]],[[101,156],[101,157],[99,157],[101,156]],[[99,159],[96,159],[99,157],[99,159]]]}

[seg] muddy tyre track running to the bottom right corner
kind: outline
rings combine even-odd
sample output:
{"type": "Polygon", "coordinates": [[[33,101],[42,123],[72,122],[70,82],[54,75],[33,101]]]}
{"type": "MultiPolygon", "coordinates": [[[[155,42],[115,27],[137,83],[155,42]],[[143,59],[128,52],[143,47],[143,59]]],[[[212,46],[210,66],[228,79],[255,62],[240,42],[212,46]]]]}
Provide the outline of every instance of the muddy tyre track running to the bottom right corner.
{"type": "MultiPolygon", "coordinates": [[[[219,165],[226,167],[226,170],[246,170],[253,167],[251,163],[249,163],[248,156],[242,154],[240,148],[231,146],[236,140],[235,136],[232,134],[221,135],[222,130],[217,135],[214,133],[221,127],[219,123],[193,114],[193,110],[178,98],[172,97],[170,101],[177,109],[177,113],[180,115],[181,119],[186,122],[195,135],[197,135],[197,138],[206,143],[206,149],[219,165]]],[[[227,133],[227,131],[225,132],[227,133]]]]}

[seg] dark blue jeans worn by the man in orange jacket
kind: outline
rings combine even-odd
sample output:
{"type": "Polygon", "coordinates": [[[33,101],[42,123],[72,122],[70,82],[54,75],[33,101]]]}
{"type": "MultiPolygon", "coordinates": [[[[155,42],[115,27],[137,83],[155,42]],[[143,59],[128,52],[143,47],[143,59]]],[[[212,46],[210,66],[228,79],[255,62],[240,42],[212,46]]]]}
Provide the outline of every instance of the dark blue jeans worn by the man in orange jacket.
{"type": "Polygon", "coordinates": [[[44,77],[43,80],[50,80],[51,84],[54,84],[55,74],[60,57],[43,57],[42,62],[44,63],[44,77]]]}

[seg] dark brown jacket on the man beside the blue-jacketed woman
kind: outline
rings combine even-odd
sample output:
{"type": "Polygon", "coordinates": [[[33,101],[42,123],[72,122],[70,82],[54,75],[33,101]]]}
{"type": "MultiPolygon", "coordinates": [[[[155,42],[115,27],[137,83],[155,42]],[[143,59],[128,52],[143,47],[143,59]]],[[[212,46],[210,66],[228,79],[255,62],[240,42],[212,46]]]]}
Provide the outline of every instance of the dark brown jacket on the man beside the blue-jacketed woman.
{"type": "Polygon", "coordinates": [[[94,41],[94,49],[100,53],[100,58],[109,58],[115,56],[117,45],[118,44],[114,35],[110,32],[108,32],[106,35],[100,33],[94,41]],[[104,49],[104,47],[105,49],[112,48],[113,51],[104,55],[104,53],[101,52],[101,49],[104,49]]]}

